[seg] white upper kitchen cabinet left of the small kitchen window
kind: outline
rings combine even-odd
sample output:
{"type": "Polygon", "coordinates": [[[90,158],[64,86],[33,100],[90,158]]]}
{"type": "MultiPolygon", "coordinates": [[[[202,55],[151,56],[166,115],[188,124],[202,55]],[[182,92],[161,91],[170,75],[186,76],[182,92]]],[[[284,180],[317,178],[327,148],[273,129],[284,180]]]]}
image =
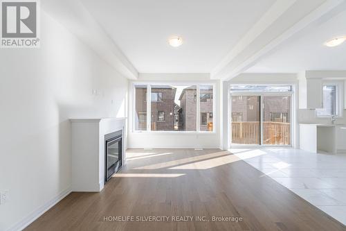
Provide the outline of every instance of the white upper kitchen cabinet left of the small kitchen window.
{"type": "Polygon", "coordinates": [[[322,78],[307,78],[307,108],[323,108],[322,78]]]}

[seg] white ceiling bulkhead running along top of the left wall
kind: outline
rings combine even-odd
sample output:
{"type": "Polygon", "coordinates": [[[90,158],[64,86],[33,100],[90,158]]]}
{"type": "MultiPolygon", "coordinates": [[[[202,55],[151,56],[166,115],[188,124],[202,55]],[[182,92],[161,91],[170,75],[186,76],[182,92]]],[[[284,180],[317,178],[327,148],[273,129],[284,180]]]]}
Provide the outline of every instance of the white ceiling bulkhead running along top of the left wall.
{"type": "Polygon", "coordinates": [[[136,68],[79,0],[45,0],[41,7],[120,74],[138,78],[136,68]]]}

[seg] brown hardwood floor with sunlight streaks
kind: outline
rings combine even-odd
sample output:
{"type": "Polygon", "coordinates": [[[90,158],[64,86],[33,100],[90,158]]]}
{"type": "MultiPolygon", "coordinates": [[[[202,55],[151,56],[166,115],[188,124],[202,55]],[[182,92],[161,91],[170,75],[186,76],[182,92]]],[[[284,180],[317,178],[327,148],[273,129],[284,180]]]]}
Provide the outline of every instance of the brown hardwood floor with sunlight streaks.
{"type": "Polygon", "coordinates": [[[127,166],[102,192],[72,193],[26,230],[345,230],[227,151],[131,149],[127,157],[127,166]],[[135,221],[115,221],[116,216],[135,221]],[[141,216],[169,221],[136,221],[141,216]],[[213,216],[242,221],[212,221],[213,216]]]}

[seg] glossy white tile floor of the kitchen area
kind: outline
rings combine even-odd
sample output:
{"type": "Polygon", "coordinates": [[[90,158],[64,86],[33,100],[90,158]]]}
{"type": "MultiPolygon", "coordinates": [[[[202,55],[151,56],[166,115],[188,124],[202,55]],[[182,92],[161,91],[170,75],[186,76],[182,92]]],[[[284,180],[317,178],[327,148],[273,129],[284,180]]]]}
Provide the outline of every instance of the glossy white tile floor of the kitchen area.
{"type": "Polygon", "coordinates": [[[293,148],[232,148],[232,153],[346,225],[346,154],[293,148]]]}

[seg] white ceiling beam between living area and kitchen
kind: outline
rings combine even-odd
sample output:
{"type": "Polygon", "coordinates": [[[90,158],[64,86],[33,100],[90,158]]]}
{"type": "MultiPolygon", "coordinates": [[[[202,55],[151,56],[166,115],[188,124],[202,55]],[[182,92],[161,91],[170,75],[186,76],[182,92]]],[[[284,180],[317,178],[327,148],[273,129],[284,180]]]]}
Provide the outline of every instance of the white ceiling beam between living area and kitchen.
{"type": "Polygon", "coordinates": [[[242,74],[282,42],[334,10],[345,0],[278,0],[212,71],[212,79],[242,74]]]}

